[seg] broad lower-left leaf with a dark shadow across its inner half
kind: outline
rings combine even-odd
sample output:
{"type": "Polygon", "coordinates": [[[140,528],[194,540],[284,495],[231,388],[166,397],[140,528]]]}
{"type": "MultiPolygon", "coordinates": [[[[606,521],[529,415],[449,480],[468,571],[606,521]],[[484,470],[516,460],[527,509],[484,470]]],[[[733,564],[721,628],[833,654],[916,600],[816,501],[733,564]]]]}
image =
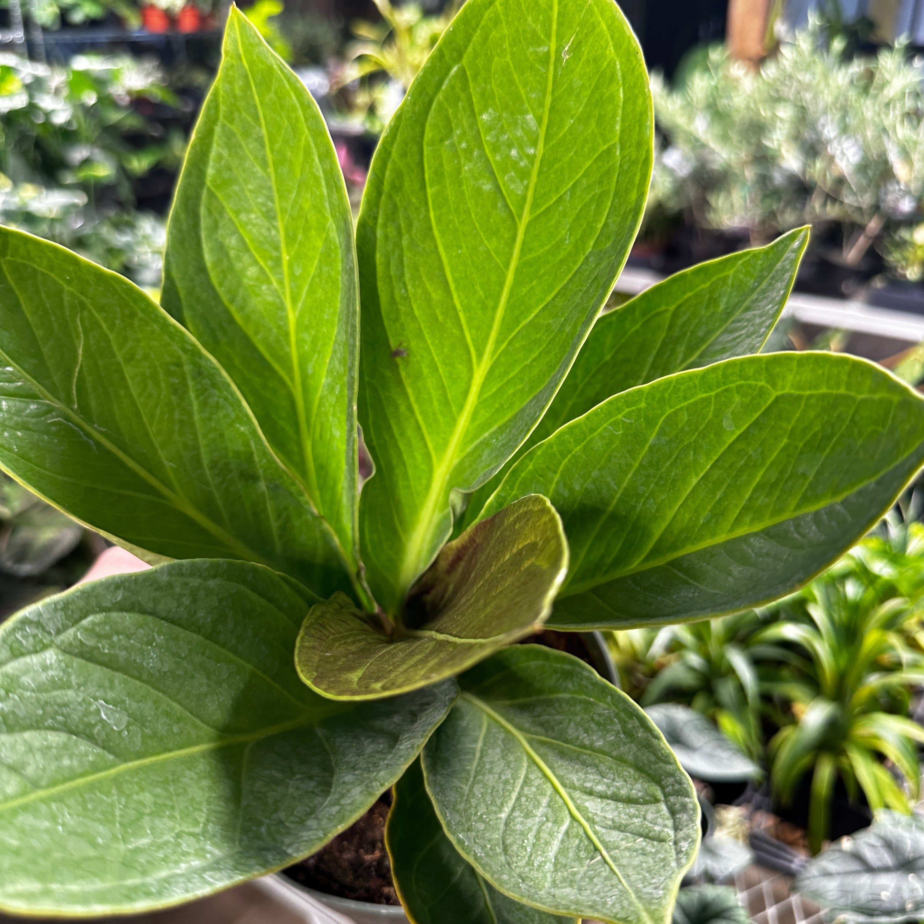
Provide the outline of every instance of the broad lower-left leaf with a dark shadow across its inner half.
{"type": "Polygon", "coordinates": [[[322,699],[310,593],[247,562],[111,577],[0,629],[0,908],[139,911],[305,857],[393,784],[456,698],[322,699]]]}

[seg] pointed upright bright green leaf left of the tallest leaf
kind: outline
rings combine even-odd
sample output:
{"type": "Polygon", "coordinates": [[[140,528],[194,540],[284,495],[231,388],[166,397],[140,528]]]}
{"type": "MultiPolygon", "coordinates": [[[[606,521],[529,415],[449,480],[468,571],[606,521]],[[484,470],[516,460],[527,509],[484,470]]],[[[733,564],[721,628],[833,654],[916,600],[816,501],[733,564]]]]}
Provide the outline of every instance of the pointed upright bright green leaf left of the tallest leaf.
{"type": "Polygon", "coordinates": [[[355,560],[359,291],[334,145],[232,8],[170,216],[164,308],[240,388],[355,560]]]}

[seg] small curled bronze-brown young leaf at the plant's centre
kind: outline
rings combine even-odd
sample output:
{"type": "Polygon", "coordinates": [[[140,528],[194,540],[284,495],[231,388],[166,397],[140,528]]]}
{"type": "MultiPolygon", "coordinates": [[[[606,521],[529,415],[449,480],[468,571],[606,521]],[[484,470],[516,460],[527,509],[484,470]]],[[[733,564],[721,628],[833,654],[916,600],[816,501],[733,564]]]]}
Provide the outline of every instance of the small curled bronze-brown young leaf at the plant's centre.
{"type": "Polygon", "coordinates": [[[305,618],[296,666],[334,699],[376,699],[458,674],[536,632],[565,579],[561,520],[533,495],[444,545],[392,638],[346,594],[305,618]]]}

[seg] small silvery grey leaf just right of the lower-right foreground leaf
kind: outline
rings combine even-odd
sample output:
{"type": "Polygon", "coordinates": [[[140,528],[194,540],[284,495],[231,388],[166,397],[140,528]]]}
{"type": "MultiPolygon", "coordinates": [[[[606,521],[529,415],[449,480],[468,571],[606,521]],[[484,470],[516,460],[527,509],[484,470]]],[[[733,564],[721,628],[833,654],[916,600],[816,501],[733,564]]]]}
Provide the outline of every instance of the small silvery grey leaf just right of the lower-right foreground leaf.
{"type": "Polygon", "coordinates": [[[665,702],[645,711],[691,776],[712,783],[742,783],[760,777],[760,767],[696,710],[665,702]]]}

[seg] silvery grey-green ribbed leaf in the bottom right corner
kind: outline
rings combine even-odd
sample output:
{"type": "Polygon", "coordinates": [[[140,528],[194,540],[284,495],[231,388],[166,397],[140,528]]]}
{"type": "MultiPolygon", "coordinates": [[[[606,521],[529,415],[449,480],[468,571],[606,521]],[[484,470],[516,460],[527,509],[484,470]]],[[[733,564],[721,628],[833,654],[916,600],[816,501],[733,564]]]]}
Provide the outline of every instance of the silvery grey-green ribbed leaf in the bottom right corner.
{"type": "Polygon", "coordinates": [[[845,924],[899,924],[924,918],[924,820],[877,813],[872,826],[812,857],[794,891],[845,924]]]}

